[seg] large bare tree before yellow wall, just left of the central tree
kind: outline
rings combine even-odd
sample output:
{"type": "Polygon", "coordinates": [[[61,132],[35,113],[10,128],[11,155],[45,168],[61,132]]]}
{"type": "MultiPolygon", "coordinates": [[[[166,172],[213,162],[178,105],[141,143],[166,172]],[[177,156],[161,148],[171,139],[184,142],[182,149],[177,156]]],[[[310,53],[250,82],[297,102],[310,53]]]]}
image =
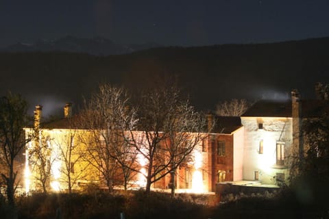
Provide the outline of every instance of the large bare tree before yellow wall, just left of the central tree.
{"type": "Polygon", "coordinates": [[[134,110],[128,106],[129,98],[123,88],[108,84],[99,86],[82,112],[83,124],[89,130],[86,156],[90,165],[101,173],[109,190],[123,173],[125,188],[132,173],[136,153],[129,147],[125,130],[134,127],[134,110]]]}

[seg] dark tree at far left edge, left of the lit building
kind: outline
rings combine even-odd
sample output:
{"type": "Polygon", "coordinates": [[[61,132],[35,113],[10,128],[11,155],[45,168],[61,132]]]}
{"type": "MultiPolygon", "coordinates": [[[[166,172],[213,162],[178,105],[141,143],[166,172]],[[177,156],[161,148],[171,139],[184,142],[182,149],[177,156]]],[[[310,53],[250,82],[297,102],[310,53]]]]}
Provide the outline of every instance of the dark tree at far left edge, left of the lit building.
{"type": "Polygon", "coordinates": [[[5,185],[8,203],[14,205],[14,192],[17,170],[16,159],[31,140],[25,138],[24,127],[27,126],[27,102],[19,95],[8,94],[0,99],[0,162],[4,168],[1,172],[5,185]]]}

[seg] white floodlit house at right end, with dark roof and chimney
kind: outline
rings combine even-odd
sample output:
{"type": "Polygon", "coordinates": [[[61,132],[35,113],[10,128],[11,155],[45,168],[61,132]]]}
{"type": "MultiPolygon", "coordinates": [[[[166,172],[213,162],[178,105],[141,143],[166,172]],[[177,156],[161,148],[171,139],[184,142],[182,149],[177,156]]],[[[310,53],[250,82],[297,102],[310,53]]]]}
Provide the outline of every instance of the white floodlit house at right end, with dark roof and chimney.
{"type": "MultiPolygon", "coordinates": [[[[327,101],[328,102],[328,101],[327,101]]],[[[294,159],[303,159],[306,145],[302,121],[328,112],[326,101],[258,101],[241,116],[244,132],[243,179],[267,185],[288,183],[294,159]]]]}

